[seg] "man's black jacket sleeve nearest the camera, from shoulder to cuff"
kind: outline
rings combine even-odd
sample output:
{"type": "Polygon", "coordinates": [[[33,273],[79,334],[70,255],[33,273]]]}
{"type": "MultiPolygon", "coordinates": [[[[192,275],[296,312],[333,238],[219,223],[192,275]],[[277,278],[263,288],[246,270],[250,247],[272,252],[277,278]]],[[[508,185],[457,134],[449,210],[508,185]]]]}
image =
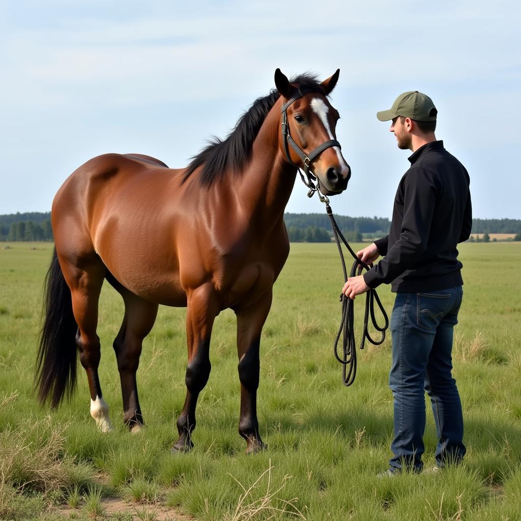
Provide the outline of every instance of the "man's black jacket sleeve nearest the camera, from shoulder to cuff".
{"type": "Polygon", "coordinates": [[[402,231],[387,255],[364,274],[369,288],[392,282],[420,259],[427,248],[437,193],[434,172],[423,168],[408,170],[403,179],[402,231]]]}

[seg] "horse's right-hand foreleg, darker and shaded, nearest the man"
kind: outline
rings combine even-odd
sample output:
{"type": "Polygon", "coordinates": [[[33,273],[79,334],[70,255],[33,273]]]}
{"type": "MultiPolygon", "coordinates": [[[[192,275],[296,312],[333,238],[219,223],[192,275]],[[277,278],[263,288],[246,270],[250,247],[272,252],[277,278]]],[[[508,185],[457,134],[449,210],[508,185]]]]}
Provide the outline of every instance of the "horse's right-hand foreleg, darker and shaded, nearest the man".
{"type": "Polygon", "coordinates": [[[259,386],[259,347],[261,332],[271,307],[271,289],[261,300],[246,309],[238,309],[237,352],[241,381],[241,417],[239,434],[246,440],[246,454],[266,448],[259,433],[257,420],[257,389],[259,386]]]}

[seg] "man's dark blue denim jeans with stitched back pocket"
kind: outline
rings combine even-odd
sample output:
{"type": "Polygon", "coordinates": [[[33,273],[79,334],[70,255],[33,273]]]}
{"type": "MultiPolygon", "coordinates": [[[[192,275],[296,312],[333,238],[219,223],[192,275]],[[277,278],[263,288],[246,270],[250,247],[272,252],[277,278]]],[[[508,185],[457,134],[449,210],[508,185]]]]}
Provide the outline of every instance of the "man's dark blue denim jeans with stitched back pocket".
{"type": "Polygon", "coordinates": [[[391,470],[423,467],[425,393],[436,423],[436,463],[458,463],[465,455],[463,414],[452,378],[453,329],[463,297],[461,286],[426,293],[397,293],[391,315],[394,397],[391,470]]]}

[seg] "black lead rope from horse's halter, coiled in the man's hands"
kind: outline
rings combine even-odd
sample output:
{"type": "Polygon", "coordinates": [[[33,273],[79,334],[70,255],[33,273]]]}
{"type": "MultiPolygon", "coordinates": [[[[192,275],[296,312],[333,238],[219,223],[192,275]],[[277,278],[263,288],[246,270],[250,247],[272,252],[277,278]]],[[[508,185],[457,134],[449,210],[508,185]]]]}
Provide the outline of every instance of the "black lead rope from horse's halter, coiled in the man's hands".
{"type": "MultiPolygon", "coordinates": [[[[342,246],[340,244],[340,239],[344,243],[345,247],[349,250],[349,253],[353,256],[354,263],[351,267],[350,277],[354,277],[356,272],[358,275],[361,275],[362,270],[369,270],[371,266],[362,262],[352,250],[348,241],[345,240],[340,228],[338,227],[337,221],[333,217],[333,210],[331,206],[329,206],[329,199],[326,195],[320,193],[318,189],[318,183],[315,185],[313,181],[307,176],[307,181],[304,179],[300,168],[298,169],[300,173],[300,177],[304,184],[309,188],[309,192],[307,193],[308,197],[312,197],[315,192],[318,194],[318,198],[320,202],[326,205],[326,213],[331,221],[331,228],[333,230],[334,240],[337,243],[338,253],[340,254],[340,262],[342,263],[342,271],[344,274],[344,283],[348,281],[348,273],[345,268],[345,259],[344,254],[342,252],[342,246]]],[[[354,301],[349,297],[346,297],[343,293],[340,294],[340,302],[342,303],[342,318],[340,320],[340,328],[337,333],[337,337],[334,340],[333,345],[333,353],[334,357],[342,364],[342,383],[344,386],[349,387],[355,380],[356,376],[356,340],[355,340],[355,328],[354,328],[354,301]],[[342,337],[342,357],[338,354],[338,343],[340,341],[340,337],[342,337]],[[348,369],[349,367],[349,369],[348,369]]],[[[364,349],[365,340],[369,340],[371,344],[380,345],[386,339],[386,329],[389,327],[389,317],[385,309],[382,306],[380,298],[375,289],[371,288],[366,293],[365,299],[365,315],[364,315],[364,330],[362,334],[362,341],[360,342],[359,349],[364,349]],[[384,319],[383,327],[378,325],[375,315],[375,301],[380,309],[380,312],[384,319]],[[368,330],[369,326],[369,314],[371,316],[371,323],[373,327],[381,332],[380,340],[374,340],[368,330]]]]}

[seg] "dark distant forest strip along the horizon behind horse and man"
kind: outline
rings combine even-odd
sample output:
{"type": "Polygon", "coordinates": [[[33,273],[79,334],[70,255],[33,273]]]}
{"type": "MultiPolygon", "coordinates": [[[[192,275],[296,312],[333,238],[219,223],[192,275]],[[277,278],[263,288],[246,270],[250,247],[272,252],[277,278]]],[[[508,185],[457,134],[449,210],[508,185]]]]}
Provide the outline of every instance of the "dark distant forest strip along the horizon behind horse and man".
{"type": "MultiPolygon", "coordinates": [[[[336,215],[338,226],[349,241],[362,237],[383,237],[389,233],[390,220],[384,217],[348,217],[336,215]]],[[[324,214],[284,214],[292,242],[329,242],[331,228],[324,214]]],[[[521,233],[521,219],[474,219],[472,233],[521,233]]],[[[52,241],[50,212],[0,215],[0,241],[52,241]]]]}

